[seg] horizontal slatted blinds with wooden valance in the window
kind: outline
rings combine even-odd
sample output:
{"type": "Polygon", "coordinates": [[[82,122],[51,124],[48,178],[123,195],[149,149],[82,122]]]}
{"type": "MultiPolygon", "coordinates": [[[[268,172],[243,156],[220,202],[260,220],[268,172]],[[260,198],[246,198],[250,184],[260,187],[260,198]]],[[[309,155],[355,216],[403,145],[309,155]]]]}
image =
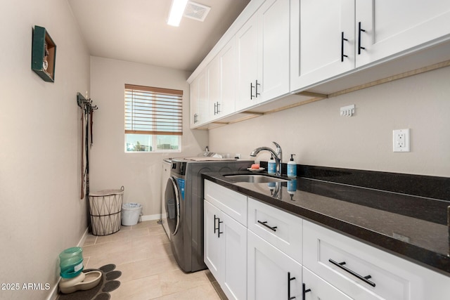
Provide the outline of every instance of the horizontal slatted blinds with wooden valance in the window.
{"type": "Polygon", "coordinates": [[[125,84],[125,133],[183,134],[183,91],[125,84]]]}

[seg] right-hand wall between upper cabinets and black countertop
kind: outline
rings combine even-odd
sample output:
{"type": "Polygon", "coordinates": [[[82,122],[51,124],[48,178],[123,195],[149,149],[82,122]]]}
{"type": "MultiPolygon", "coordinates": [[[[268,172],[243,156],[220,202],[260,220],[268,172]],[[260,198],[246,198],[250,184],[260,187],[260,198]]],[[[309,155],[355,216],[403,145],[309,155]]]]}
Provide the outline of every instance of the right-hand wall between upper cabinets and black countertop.
{"type": "Polygon", "coordinates": [[[250,158],[253,149],[276,141],[284,162],[293,153],[297,164],[448,177],[449,78],[446,67],[222,126],[209,131],[210,148],[250,158]],[[340,107],[351,104],[356,114],[340,117],[340,107]],[[411,152],[392,152],[392,130],[407,128],[411,152]]]}

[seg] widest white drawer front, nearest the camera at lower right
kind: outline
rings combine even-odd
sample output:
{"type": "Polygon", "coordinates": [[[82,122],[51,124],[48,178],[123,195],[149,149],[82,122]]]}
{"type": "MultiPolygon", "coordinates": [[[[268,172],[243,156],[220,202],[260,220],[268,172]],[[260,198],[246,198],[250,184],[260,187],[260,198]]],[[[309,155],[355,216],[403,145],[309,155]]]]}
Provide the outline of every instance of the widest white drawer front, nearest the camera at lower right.
{"type": "Polygon", "coordinates": [[[450,294],[449,277],[309,221],[303,222],[303,243],[303,265],[354,299],[450,294]]]}

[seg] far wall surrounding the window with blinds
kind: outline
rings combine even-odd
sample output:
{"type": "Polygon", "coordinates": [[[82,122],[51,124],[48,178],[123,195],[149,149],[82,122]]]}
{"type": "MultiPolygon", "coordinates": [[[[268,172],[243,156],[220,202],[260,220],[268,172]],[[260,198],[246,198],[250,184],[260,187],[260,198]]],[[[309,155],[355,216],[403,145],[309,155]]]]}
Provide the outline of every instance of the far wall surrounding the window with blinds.
{"type": "Polygon", "coordinates": [[[94,146],[91,149],[91,191],[120,188],[124,202],[143,204],[143,215],[159,219],[162,159],[195,156],[207,145],[206,131],[189,129],[188,72],[121,60],[91,57],[94,146]],[[183,140],[178,153],[124,152],[124,84],[183,90],[183,140]]]}

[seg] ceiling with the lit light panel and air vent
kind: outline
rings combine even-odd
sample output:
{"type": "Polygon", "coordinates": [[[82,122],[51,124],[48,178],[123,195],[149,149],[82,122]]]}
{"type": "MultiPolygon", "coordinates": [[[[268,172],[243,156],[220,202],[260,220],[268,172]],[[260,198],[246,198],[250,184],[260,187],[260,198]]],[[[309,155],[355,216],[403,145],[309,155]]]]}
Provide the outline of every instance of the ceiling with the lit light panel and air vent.
{"type": "Polygon", "coordinates": [[[68,0],[91,56],[192,72],[250,0],[195,0],[204,22],[166,24],[172,0],[68,0]]]}

